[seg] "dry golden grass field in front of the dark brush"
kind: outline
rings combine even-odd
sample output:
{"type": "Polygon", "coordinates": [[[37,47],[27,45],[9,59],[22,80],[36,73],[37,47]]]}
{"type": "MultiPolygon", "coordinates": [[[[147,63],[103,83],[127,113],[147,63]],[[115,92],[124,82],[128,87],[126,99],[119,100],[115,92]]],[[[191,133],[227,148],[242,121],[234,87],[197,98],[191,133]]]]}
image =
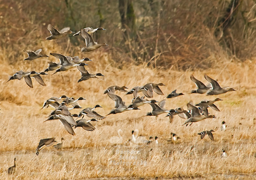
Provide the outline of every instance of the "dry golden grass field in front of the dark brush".
{"type": "MultiPolygon", "coordinates": [[[[65,49],[55,49],[54,41],[42,42],[44,52],[49,54],[56,52],[70,56],[78,55],[79,49],[74,54],[66,54],[65,49]]],[[[255,179],[256,178],[256,76],[255,60],[242,64],[223,60],[213,69],[205,71],[174,71],[172,69],[151,69],[142,64],[121,64],[118,67],[116,60],[104,49],[92,53],[79,54],[88,56],[93,62],[87,67],[91,73],[101,72],[105,77],[77,82],[80,73],[75,68],[59,72],[55,75],[49,72],[43,76],[46,87],[33,81],[34,89],[26,86],[24,80],[8,80],[8,75],[23,69],[24,71],[43,71],[47,67],[47,61],[57,60],[51,56],[40,58],[32,62],[22,61],[26,54],[21,53],[17,57],[17,64],[8,65],[8,55],[2,54],[6,61],[2,64],[0,74],[0,179],[85,179],[85,178],[210,178],[210,179],[255,179]],[[221,86],[230,86],[235,92],[228,92],[218,96],[205,96],[205,94],[187,94],[195,89],[195,84],[189,76],[194,74],[203,82],[203,74],[206,73],[214,79],[218,79],[221,86]],[[93,107],[96,104],[97,112],[106,115],[114,106],[114,102],[103,95],[104,90],[113,85],[141,86],[148,82],[163,82],[161,86],[165,95],[174,89],[185,95],[166,100],[166,109],[175,109],[183,106],[186,108],[188,101],[194,103],[203,99],[215,99],[220,97],[223,101],[215,104],[221,110],[216,112],[210,109],[210,113],[217,116],[216,119],[207,119],[192,124],[190,127],[181,126],[184,120],[174,117],[172,124],[165,115],[157,119],[147,116],[151,111],[150,105],[144,105],[141,110],[123,112],[109,115],[105,120],[93,123],[96,130],[84,131],[75,129],[75,136],[69,135],[58,120],[47,121],[46,116],[51,108],[39,110],[43,102],[53,96],[67,95],[68,97],[84,97],[86,101],[80,101],[83,107],[93,107]],[[220,131],[222,121],[226,121],[227,129],[220,131]],[[241,124],[240,124],[241,123],[241,124]],[[112,136],[120,135],[123,143],[114,145],[109,142],[112,136]],[[138,129],[139,135],[158,136],[159,144],[151,145],[129,144],[131,131],[138,129]],[[197,133],[214,129],[215,141],[208,137],[201,140],[197,133]],[[177,143],[167,143],[165,139],[170,137],[170,132],[176,133],[181,139],[177,143]],[[55,150],[53,146],[46,147],[35,155],[38,142],[43,138],[56,137],[60,141],[65,139],[64,149],[55,150]],[[191,150],[192,146],[195,146],[191,150]],[[224,148],[227,158],[221,158],[221,150],[224,148]],[[152,150],[151,150],[152,149],[152,150]],[[8,176],[6,169],[13,163],[16,157],[18,170],[12,176],[8,176]]],[[[132,100],[132,95],[124,96],[117,92],[126,104],[132,100]]],[[[160,101],[164,96],[154,94],[154,99],[160,101]]],[[[72,110],[72,113],[79,110],[72,110]]]]}

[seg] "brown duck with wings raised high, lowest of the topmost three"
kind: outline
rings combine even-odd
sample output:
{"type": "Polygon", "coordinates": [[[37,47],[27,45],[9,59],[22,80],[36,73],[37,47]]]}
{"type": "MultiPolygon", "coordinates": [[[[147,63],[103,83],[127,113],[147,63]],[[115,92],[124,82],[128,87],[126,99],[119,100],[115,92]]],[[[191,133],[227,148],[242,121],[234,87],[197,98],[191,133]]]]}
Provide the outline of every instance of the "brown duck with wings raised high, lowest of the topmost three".
{"type": "Polygon", "coordinates": [[[85,30],[81,30],[81,35],[82,37],[85,39],[85,44],[86,47],[85,48],[81,48],[81,52],[89,52],[89,51],[93,51],[95,49],[98,49],[102,46],[108,46],[105,42],[102,44],[98,44],[97,42],[94,42],[92,36],[90,34],[88,34],[85,30]]]}

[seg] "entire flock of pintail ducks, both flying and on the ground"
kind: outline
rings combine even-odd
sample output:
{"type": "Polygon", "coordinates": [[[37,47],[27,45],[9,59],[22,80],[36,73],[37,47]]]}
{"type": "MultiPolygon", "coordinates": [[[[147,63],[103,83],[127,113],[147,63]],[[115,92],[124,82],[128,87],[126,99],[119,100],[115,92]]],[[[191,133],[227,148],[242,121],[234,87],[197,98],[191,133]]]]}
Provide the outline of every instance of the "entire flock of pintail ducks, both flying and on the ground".
{"type": "MultiPolygon", "coordinates": [[[[58,31],[56,30],[51,24],[48,24],[47,29],[50,31],[51,35],[46,38],[46,40],[53,40],[58,38],[63,38],[67,34],[72,34],[69,27],[65,27],[62,30],[58,31]]],[[[95,42],[92,38],[93,33],[97,30],[105,30],[102,27],[98,27],[96,29],[87,27],[84,29],[81,29],[79,32],[73,34],[72,36],[78,36],[81,35],[85,39],[85,45],[86,47],[81,48],[81,52],[90,52],[95,49],[100,48],[101,46],[108,46],[106,43],[98,44],[95,42]]],[[[24,52],[28,54],[28,57],[24,60],[35,60],[41,57],[49,57],[48,55],[41,55],[42,49],[38,49],[35,52],[28,51],[24,49],[24,52]]],[[[45,82],[43,81],[41,75],[47,75],[45,72],[48,71],[55,71],[53,74],[60,72],[60,71],[68,71],[71,68],[77,67],[77,69],[81,73],[81,78],[78,80],[78,82],[88,80],[90,78],[97,78],[97,76],[104,76],[101,73],[96,74],[90,74],[86,69],[85,66],[88,64],[85,64],[86,61],[91,61],[89,58],[83,58],[80,59],[79,56],[64,56],[59,53],[50,53],[50,55],[56,57],[60,60],[59,63],[49,61],[49,67],[45,69],[43,72],[36,72],[36,71],[18,71],[14,75],[9,77],[10,80],[14,79],[24,79],[26,84],[33,88],[32,79],[34,78],[41,86],[46,86],[45,82]]],[[[222,88],[219,83],[209,77],[208,75],[204,74],[204,78],[210,82],[209,85],[204,85],[203,82],[197,80],[193,75],[190,76],[190,79],[195,82],[197,89],[191,90],[191,94],[197,93],[197,94],[204,94],[207,95],[218,95],[218,94],[224,94],[229,91],[235,91],[233,88],[224,87],[222,88]]],[[[220,98],[216,98],[215,100],[203,100],[200,103],[193,105],[192,101],[189,101],[187,104],[187,109],[184,110],[182,107],[178,107],[177,109],[166,109],[164,106],[166,105],[166,99],[162,99],[161,101],[156,101],[154,99],[148,100],[147,98],[153,98],[154,93],[159,95],[164,95],[162,90],[159,86],[165,86],[163,83],[147,83],[143,86],[135,86],[131,90],[127,91],[128,89],[126,86],[110,86],[108,87],[104,94],[107,94],[111,100],[114,101],[114,107],[113,109],[107,114],[106,116],[109,116],[111,114],[117,114],[122,113],[125,111],[130,110],[139,110],[139,107],[145,104],[150,104],[152,107],[151,112],[147,112],[145,116],[158,116],[160,114],[166,113],[167,117],[169,117],[170,122],[173,121],[173,116],[178,115],[181,118],[185,119],[185,122],[183,125],[188,126],[192,125],[192,123],[199,122],[201,120],[205,120],[207,118],[215,118],[214,115],[209,115],[208,108],[214,109],[215,111],[220,111],[218,107],[214,104],[216,101],[222,101],[220,98]],[[130,105],[125,105],[125,102],[122,100],[120,96],[115,94],[116,91],[124,92],[125,95],[133,94],[133,99],[130,105]],[[140,92],[143,93],[143,95],[138,95],[140,92]],[[158,104],[157,104],[158,103],[158,104]]],[[[166,96],[166,98],[174,98],[179,97],[181,95],[184,95],[183,93],[177,93],[177,90],[173,90],[170,94],[166,96]]],[[[83,109],[79,114],[72,114],[70,111],[72,109],[82,109],[80,105],[78,104],[78,101],[85,100],[83,97],[74,98],[74,97],[67,97],[65,95],[60,97],[51,97],[48,100],[45,101],[41,109],[48,108],[49,106],[52,107],[54,110],[50,113],[48,116],[48,119],[45,121],[51,121],[51,120],[59,120],[60,123],[64,126],[64,129],[70,134],[75,135],[74,129],[76,127],[82,127],[86,131],[94,131],[96,128],[91,124],[93,121],[103,120],[106,118],[106,116],[102,116],[98,114],[98,112],[95,111],[96,108],[102,108],[100,105],[95,105],[94,107],[87,107],[83,109]],[[61,102],[60,102],[61,101],[61,102]],[[84,116],[89,117],[89,120],[83,119],[84,116]],[[81,118],[79,120],[74,120],[74,117],[81,118]],[[74,127],[74,128],[73,128],[74,127]]],[[[44,122],[45,122],[44,121],[44,122]]],[[[222,122],[222,131],[226,130],[226,124],[223,121],[222,122]]],[[[204,138],[205,135],[208,135],[209,138],[214,141],[214,137],[212,132],[215,132],[213,130],[210,131],[202,131],[198,133],[200,135],[201,139],[204,138]]],[[[150,143],[152,139],[155,139],[155,143],[158,144],[158,137],[155,136],[155,138],[150,137],[149,140],[143,141],[145,143],[150,143]]],[[[171,133],[170,141],[177,141],[180,139],[177,137],[175,133],[171,133]]],[[[54,147],[56,149],[62,149],[63,148],[63,138],[61,138],[61,143],[56,144],[54,147]]],[[[139,140],[135,138],[134,131],[132,131],[132,140],[131,142],[138,142],[139,140]]],[[[56,142],[55,138],[47,138],[47,139],[41,139],[38,147],[36,149],[36,156],[38,156],[39,152],[45,148],[45,146],[53,145],[56,142]]],[[[226,154],[225,150],[222,150],[223,153],[226,154]]],[[[222,154],[223,154],[222,153],[222,154]]],[[[226,155],[223,156],[226,156],[226,155]]],[[[8,173],[12,174],[15,173],[16,170],[16,164],[15,164],[16,158],[14,159],[14,166],[11,166],[8,169],[8,173]]]]}

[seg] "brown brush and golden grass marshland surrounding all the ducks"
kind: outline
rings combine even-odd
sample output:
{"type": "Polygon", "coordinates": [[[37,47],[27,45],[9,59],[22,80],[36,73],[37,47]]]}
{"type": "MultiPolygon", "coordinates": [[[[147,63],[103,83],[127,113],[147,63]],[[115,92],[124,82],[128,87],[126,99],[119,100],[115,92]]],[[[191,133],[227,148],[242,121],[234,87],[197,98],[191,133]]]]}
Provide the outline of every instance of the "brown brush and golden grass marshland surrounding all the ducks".
{"type": "MultiPolygon", "coordinates": [[[[0,179],[10,179],[6,169],[17,158],[18,172],[15,179],[83,179],[97,177],[127,178],[209,178],[255,179],[256,177],[256,4],[252,0],[236,1],[179,1],[141,0],[130,3],[128,12],[134,11],[130,21],[124,24],[120,17],[121,0],[49,1],[1,0],[0,3],[0,179]],[[132,6],[131,6],[132,5],[132,6]],[[102,26],[106,31],[96,32],[94,40],[109,46],[94,52],[80,54],[84,40],[65,37],[45,41],[49,36],[46,26],[51,23],[57,29],[70,26],[78,31],[90,26],[102,26]],[[8,80],[16,71],[44,71],[47,61],[58,60],[53,56],[34,61],[23,61],[23,49],[37,50],[42,54],[60,53],[66,56],[89,57],[88,71],[101,72],[105,77],[77,83],[80,73],[76,69],[43,76],[46,87],[33,81],[34,89],[25,82],[8,80]],[[189,79],[191,74],[206,83],[203,74],[218,79],[221,86],[230,86],[236,92],[219,95],[224,101],[217,104],[221,112],[210,109],[215,120],[204,120],[181,126],[184,120],[175,117],[172,124],[165,115],[141,117],[151,111],[150,105],[141,110],[109,115],[94,123],[96,130],[87,132],[75,129],[76,136],[69,135],[59,121],[43,123],[51,109],[39,110],[43,102],[53,96],[84,97],[83,108],[101,105],[97,109],[106,115],[114,102],[103,95],[113,85],[142,86],[148,82],[163,82],[167,95],[174,89],[185,96],[166,100],[166,109],[186,108],[188,101],[213,100],[200,94],[187,94],[195,89],[189,79]],[[220,131],[225,120],[228,128],[220,131]],[[112,136],[123,142],[131,138],[131,131],[158,136],[158,146],[134,146],[109,143],[112,136]],[[214,129],[215,141],[206,137],[200,140],[198,132],[214,129]],[[181,137],[175,144],[168,144],[170,132],[181,137]],[[40,139],[56,137],[64,141],[63,150],[46,147],[39,156],[34,151],[40,139]],[[196,146],[195,151],[190,151],[196,146]],[[228,157],[220,158],[222,148],[228,157]],[[153,149],[152,151],[150,151],[153,149]],[[146,165],[113,165],[120,163],[120,151],[137,150],[132,157],[146,165]]],[[[126,5],[127,6],[127,5],[126,5]]],[[[124,6],[124,7],[126,7],[124,6]]],[[[127,15],[127,14],[126,14],[127,15]]],[[[131,17],[131,16],[127,16],[131,17]]],[[[132,96],[117,92],[126,104],[132,96]]],[[[160,101],[163,96],[154,95],[160,101]]],[[[72,113],[79,112],[72,111],[72,113]]],[[[122,154],[123,155],[123,154],[122,154]]],[[[132,157],[127,156],[126,161],[132,157]]],[[[133,161],[134,161],[133,158],[133,161]]]]}

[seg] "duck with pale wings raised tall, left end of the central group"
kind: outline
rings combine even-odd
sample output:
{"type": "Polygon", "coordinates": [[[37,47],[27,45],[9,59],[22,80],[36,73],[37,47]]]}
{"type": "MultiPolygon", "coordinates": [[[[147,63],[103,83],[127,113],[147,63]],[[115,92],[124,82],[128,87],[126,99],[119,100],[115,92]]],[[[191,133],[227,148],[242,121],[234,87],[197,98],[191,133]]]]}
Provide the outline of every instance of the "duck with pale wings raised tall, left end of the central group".
{"type": "MultiPolygon", "coordinates": [[[[122,98],[120,96],[117,96],[116,94],[108,94],[108,96],[115,101],[115,109],[112,109],[109,114],[117,114],[124,111],[132,110],[133,108],[128,108],[125,105],[125,102],[123,102],[122,98]]],[[[108,115],[109,115],[108,114],[108,115]]]]}

